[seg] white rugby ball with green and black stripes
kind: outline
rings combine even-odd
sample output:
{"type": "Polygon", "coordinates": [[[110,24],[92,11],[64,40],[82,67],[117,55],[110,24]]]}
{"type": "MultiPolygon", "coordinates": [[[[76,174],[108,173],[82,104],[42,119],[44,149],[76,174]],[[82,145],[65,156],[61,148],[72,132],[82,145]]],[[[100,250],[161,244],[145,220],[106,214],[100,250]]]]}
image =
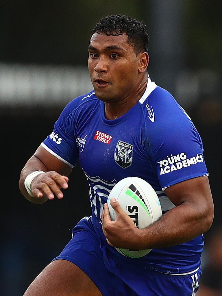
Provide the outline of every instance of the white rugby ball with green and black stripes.
{"type": "MultiPolygon", "coordinates": [[[[145,228],[156,222],[162,216],[160,200],[147,181],[138,177],[127,177],[119,181],[110,191],[107,204],[112,221],[116,213],[110,205],[110,199],[118,200],[121,208],[127,213],[137,228],[145,228]]],[[[120,254],[130,258],[140,258],[147,255],[152,249],[129,250],[115,248],[120,254]]]]}

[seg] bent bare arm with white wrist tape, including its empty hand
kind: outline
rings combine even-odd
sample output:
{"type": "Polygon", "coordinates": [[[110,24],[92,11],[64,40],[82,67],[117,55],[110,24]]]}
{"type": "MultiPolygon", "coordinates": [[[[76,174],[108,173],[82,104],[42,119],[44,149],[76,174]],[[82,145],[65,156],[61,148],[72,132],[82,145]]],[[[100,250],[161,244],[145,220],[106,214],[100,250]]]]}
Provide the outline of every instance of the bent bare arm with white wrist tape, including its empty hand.
{"type": "Polygon", "coordinates": [[[61,188],[68,187],[67,176],[71,173],[71,168],[50,154],[46,149],[39,146],[35,154],[28,160],[21,171],[19,188],[26,199],[35,204],[53,199],[54,194],[58,198],[63,197],[61,188]],[[31,191],[35,197],[31,197],[25,189],[25,178],[32,172],[42,170],[45,174],[39,174],[31,183],[31,191]]]}

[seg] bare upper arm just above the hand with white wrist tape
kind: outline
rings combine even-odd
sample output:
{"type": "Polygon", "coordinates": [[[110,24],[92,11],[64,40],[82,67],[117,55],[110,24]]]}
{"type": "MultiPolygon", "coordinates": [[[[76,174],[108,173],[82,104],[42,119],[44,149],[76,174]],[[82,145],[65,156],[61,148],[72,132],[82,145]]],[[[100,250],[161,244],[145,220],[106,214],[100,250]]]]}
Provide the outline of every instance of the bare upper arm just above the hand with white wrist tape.
{"type": "Polygon", "coordinates": [[[33,157],[37,157],[46,166],[48,171],[54,170],[61,175],[68,176],[72,168],[58,159],[42,146],[39,146],[33,157]]]}

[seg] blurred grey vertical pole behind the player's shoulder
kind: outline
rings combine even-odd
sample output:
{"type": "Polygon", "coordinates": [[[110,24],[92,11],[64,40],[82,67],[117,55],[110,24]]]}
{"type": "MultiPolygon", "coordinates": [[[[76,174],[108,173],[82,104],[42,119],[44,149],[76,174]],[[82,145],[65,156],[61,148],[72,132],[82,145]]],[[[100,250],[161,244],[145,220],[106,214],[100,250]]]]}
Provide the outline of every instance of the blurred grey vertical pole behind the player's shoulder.
{"type": "Polygon", "coordinates": [[[184,5],[186,0],[149,0],[146,6],[147,30],[150,33],[151,78],[170,92],[184,66],[184,5]],[[153,76],[153,77],[152,77],[153,76]]]}

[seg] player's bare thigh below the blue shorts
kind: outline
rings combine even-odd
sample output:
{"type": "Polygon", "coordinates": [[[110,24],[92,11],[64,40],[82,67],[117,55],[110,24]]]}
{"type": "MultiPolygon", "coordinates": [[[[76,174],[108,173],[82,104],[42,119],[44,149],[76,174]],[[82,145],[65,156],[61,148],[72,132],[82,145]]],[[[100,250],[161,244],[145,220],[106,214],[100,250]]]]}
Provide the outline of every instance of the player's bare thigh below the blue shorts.
{"type": "Polygon", "coordinates": [[[24,296],[101,296],[94,282],[78,266],[55,260],[30,284],[24,296]]]}

